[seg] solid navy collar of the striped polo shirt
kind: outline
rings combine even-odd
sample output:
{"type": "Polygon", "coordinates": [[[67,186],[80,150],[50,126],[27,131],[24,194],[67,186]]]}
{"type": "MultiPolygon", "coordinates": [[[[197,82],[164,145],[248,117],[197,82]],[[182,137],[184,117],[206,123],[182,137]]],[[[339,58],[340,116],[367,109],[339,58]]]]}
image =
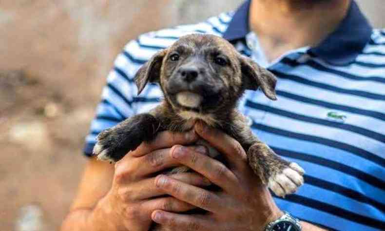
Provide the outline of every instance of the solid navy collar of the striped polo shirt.
{"type": "MultiPolygon", "coordinates": [[[[250,32],[250,2],[251,0],[247,0],[236,10],[229,27],[223,34],[223,38],[229,41],[245,39],[250,32]]],[[[346,17],[341,21],[338,28],[318,46],[311,47],[308,53],[332,64],[348,64],[353,62],[362,52],[366,43],[370,40],[371,33],[371,25],[353,0],[346,17]]]]}

